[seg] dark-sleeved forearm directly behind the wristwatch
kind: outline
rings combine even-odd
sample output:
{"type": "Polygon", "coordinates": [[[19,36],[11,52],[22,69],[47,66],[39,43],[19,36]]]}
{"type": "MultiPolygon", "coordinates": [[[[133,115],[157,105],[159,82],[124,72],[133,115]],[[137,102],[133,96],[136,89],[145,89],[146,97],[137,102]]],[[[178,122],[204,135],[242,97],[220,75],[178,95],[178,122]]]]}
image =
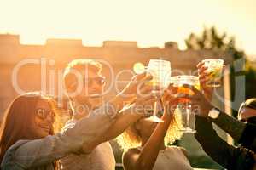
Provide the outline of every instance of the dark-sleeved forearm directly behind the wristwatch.
{"type": "Polygon", "coordinates": [[[212,122],[216,123],[218,127],[222,128],[226,133],[229,133],[230,136],[236,140],[241,139],[241,135],[246,127],[246,123],[238,121],[236,118],[227,115],[223,111],[220,111],[218,118],[212,119],[212,122]]]}

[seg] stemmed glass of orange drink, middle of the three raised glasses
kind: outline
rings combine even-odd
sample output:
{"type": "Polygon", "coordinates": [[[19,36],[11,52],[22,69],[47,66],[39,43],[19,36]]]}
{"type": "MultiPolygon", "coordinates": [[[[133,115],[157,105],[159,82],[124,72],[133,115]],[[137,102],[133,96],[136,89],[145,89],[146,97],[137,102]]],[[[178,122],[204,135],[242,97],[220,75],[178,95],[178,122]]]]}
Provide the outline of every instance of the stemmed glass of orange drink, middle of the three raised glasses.
{"type": "MultiPolygon", "coordinates": [[[[183,87],[184,84],[200,89],[199,77],[195,76],[182,75],[171,77],[169,82],[173,83],[174,87],[177,87],[178,94],[195,94],[191,89],[183,87]]],[[[183,133],[195,133],[195,113],[191,111],[190,100],[180,98],[178,103],[175,113],[178,114],[177,117],[181,117],[182,120],[182,127],[179,130],[183,133]]]]}

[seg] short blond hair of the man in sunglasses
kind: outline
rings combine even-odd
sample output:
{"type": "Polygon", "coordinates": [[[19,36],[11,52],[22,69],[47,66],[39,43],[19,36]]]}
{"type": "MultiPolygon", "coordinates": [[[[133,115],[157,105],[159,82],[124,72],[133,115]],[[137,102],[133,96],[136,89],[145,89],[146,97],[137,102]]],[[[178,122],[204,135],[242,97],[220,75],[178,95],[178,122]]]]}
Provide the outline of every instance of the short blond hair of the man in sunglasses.
{"type": "Polygon", "coordinates": [[[65,87],[71,83],[70,79],[75,77],[72,71],[96,71],[97,73],[102,71],[102,64],[93,59],[73,59],[70,63],[67,64],[65,68],[63,79],[65,82],[65,87]]]}

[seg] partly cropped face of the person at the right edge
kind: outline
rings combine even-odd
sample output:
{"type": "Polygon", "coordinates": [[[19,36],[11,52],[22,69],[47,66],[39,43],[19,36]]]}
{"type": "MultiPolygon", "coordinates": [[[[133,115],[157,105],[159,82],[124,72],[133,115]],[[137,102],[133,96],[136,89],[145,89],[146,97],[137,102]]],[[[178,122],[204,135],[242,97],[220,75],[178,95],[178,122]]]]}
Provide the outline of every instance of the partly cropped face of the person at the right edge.
{"type": "MultiPolygon", "coordinates": [[[[253,117],[256,118],[256,110],[248,107],[242,107],[241,110],[239,111],[239,116],[238,119],[242,122],[250,122],[249,120],[253,120],[253,117]]],[[[254,118],[254,120],[255,120],[254,118]]],[[[255,123],[255,121],[251,122],[255,123]]]]}

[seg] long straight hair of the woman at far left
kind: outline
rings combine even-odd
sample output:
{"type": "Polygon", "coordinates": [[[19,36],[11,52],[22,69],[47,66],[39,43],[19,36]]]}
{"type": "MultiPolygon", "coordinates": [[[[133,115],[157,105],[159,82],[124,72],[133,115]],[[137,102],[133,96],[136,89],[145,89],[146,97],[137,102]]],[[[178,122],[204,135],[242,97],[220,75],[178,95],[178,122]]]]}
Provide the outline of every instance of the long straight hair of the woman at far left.
{"type": "MultiPolygon", "coordinates": [[[[0,132],[0,162],[3,161],[5,152],[12,144],[20,139],[38,139],[29,133],[30,120],[39,100],[49,102],[51,99],[39,92],[31,92],[16,97],[4,114],[0,132]]],[[[52,106],[52,105],[51,105],[52,106]]],[[[52,129],[50,134],[54,134],[52,129]]],[[[56,163],[55,168],[56,168],[56,163]]]]}

